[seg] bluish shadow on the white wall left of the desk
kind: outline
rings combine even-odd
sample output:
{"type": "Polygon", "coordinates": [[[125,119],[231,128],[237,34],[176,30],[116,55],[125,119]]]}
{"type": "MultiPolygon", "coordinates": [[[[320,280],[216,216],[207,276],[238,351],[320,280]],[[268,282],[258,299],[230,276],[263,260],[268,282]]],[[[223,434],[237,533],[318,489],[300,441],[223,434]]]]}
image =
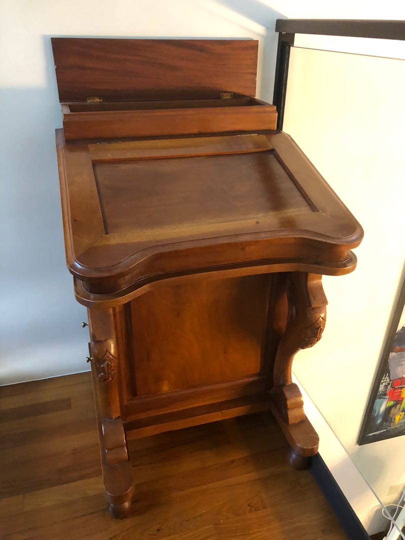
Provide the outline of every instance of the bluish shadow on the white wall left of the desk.
{"type": "Polygon", "coordinates": [[[3,126],[0,227],[0,385],[88,369],[85,316],[65,266],[53,127],[53,87],[0,91],[3,126]],[[72,316],[73,313],[73,316],[72,316]]]}

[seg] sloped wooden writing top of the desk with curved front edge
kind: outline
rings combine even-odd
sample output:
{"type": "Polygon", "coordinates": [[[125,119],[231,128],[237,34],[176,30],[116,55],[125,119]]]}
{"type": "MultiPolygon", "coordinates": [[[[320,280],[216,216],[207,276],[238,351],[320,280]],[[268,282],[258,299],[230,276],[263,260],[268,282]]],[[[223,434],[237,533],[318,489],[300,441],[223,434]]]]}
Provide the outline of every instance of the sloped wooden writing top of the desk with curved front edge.
{"type": "Polygon", "coordinates": [[[87,293],[274,262],[355,267],[361,226],[285,133],[64,144],[58,132],[57,150],[66,259],[87,293]]]}

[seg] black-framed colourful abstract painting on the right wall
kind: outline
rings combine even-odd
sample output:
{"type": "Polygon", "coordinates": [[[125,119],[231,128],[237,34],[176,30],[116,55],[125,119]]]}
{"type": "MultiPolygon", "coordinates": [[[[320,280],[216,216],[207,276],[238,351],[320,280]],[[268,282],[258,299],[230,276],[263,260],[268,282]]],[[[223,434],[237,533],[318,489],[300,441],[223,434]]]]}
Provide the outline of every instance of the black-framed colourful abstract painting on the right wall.
{"type": "Polygon", "coordinates": [[[405,435],[405,280],[395,308],[358,444],[405,435]]]}

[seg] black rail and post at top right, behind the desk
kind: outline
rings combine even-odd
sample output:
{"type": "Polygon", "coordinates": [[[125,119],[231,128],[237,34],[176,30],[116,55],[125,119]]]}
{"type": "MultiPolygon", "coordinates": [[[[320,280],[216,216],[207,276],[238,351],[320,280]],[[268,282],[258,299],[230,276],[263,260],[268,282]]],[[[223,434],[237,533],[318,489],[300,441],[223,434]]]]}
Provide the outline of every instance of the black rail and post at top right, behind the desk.
{"type": "Polygon", "coordinates": [[[296,33],[323,36],[368,37],[405,40],[405,21],[356,21],[353,19],[277,19],[279,45],[274,77],[273,104],[277,107],[277,129],[282,130],[287,94],[290,49],[296,33]]]}

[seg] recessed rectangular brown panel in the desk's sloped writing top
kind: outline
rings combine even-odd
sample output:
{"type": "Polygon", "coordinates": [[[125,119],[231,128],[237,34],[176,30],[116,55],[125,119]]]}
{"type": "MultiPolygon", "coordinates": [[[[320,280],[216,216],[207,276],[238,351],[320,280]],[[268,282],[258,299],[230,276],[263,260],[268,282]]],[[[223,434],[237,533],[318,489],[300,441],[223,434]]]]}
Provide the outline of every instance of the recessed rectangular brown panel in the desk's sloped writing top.
{"type": "MultiPolygon", "coordinates": [[[[274,152],[94,163],[106,234],[312,212],[274,152]]],[[[161,230],[161,232],[159,232],[161,230]]],[[[204,230],[201,231],[204,238],[204,230]]]]}

